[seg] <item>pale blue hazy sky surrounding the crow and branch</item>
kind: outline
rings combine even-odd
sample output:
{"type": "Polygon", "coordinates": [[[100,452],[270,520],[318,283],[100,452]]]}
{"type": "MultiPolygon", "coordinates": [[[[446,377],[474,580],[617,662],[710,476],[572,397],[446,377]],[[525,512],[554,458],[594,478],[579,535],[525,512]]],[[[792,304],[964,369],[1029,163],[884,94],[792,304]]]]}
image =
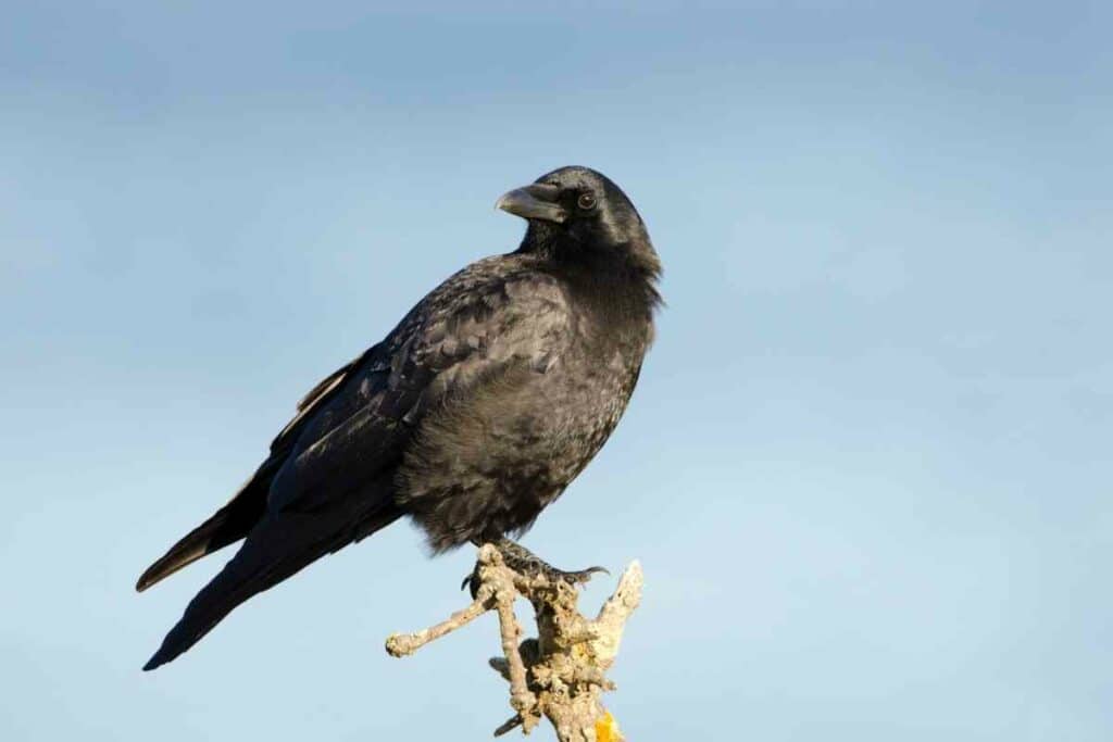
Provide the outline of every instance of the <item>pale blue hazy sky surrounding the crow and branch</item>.
{"type": "Polygon", "coordinates": [[[132,585],[569,164],[666,265],[525,540],[642,560],[629,738],[1110,739],[1110,3],[0,7],[0,739],[489,738],[493,617],[382,649],[470,550],[398,524],[157,673],[226,555],[132,585]]]}

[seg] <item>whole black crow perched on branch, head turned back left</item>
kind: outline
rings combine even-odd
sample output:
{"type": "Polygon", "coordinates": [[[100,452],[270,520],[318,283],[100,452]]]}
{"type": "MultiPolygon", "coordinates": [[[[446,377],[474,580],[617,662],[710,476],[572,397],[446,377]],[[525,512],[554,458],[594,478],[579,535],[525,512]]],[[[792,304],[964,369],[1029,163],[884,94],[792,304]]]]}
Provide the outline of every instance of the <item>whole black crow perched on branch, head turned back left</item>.
{"type": "Polygon", "coordinates": [[[518,249],[449,277],[313,387],[235,496],[142,573],[140,592],[243,542],[144,670],[403,516],[433,554],[490,543],[553,578],[598,570],[556,570],[512,537],[626,410],[653,342],[661,261],[631,200],[587,167],[546,172],[495,207],[525,219],[518,249]]]}

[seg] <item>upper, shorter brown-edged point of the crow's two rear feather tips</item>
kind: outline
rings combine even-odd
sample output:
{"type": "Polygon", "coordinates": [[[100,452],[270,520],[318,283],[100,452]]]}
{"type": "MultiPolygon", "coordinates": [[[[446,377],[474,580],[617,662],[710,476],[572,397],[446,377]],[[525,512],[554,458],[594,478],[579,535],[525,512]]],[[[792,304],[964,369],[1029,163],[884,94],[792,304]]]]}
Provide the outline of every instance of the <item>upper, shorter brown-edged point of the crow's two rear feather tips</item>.
{"type": "Polygon", "coordinates": [[[139,577],[136,590],[141,593],[181,567],[245,537],[266,512],[268,483],[269,479],[260,481],[256,474],[227,505],[151,564],[139,577]]]}

